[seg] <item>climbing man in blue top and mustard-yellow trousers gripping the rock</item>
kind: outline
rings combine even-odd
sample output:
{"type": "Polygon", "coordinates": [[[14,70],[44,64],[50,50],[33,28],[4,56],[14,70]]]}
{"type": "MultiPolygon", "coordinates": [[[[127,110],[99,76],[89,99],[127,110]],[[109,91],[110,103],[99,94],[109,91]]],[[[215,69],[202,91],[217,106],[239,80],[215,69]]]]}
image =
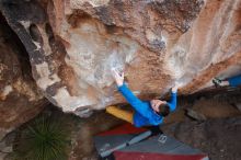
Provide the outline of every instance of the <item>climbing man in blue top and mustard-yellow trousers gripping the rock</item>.
{"type": "Polygon", "coordinates": [[[134,113],[120,110],[117,106],[108,106],[106,112],[134,124],[136,127],[158,126],[163,123],[163,117],[173,112],[176,107],[177,85],[172,88],[171,100],[169,102],[161,100],[141,101],[124,83],[124,72],[120,75],[113,69],[113,77],[118,87],[118,91],[134,107],[134,113]]]}

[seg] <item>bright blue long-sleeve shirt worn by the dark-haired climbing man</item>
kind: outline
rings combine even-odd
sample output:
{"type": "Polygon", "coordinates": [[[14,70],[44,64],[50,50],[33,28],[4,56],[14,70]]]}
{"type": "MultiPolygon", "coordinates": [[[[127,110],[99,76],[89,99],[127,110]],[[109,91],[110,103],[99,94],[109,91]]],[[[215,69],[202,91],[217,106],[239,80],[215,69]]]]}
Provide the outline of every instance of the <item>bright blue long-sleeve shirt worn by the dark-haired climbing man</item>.
{"type": "MultiPolygon", "coordinates": [[[[118,91],[123,94],[123,96],[127,100],[127,102],[134,107],[134,125],[136,127],[141,126],[150,126],[150,125],[159,125],[163,122],[163,117],[157,114],[149,101],[141,101],[133,92],[126,87],[118,87],[118,91]]],[[[173,112],[176,107],[176,93],[172,92],[171,101],[168,102],[170,107],[170,112],[173,112]]]]}

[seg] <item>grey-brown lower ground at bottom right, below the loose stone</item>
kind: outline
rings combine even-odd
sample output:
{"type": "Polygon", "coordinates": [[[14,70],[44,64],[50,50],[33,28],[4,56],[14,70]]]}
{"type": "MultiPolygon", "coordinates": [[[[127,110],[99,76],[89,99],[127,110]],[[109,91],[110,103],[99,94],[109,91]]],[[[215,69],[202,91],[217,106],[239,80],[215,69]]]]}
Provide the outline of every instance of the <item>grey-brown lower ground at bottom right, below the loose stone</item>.
{"type": "Polygon", "coordinates": [[[175,123],[163,126],[162,130],[200,149],[210,160],[241,159],[241,116],[175,123]]]}

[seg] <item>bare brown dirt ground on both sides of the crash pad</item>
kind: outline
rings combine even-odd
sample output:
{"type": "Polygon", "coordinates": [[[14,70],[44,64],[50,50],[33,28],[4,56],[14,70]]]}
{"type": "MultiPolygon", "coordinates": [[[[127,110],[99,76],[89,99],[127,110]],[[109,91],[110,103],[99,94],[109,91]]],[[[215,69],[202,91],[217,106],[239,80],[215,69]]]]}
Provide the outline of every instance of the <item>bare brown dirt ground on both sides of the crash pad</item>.
{"type": "MultiPolygon", "coordinates": [[[[236,107],[240,101],[240,91],[179,98],[177,110],[160,127],[164,134],[206,152],[211,160],[240,160],[241,112],[236,107]],[[202,114],[205,119],[187,116],[187,108],[202,114]]],[[[49,112],[67,121],[71,127],[69,160],[97,159],[94,135],[123,123],[104,111],[95,112],[89,118],[64,114],[56,107],[47,108],[47,114],[49,112]]]]}

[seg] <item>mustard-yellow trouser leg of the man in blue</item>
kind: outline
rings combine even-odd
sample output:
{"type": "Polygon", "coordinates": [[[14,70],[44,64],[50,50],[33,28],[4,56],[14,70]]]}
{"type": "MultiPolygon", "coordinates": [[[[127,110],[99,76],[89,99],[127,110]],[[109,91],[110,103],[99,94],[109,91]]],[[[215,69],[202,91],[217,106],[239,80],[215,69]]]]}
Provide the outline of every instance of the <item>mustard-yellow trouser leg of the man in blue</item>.
{"type": "Polygon", "coordinates": [[[128,112],[128,111],[124,111],[117,106],[107,106],[106,107],[106,112],[123,119],[123,121],[126,121],[128,123],[133,123],[133,113],[131,112],[128,112]]]}

